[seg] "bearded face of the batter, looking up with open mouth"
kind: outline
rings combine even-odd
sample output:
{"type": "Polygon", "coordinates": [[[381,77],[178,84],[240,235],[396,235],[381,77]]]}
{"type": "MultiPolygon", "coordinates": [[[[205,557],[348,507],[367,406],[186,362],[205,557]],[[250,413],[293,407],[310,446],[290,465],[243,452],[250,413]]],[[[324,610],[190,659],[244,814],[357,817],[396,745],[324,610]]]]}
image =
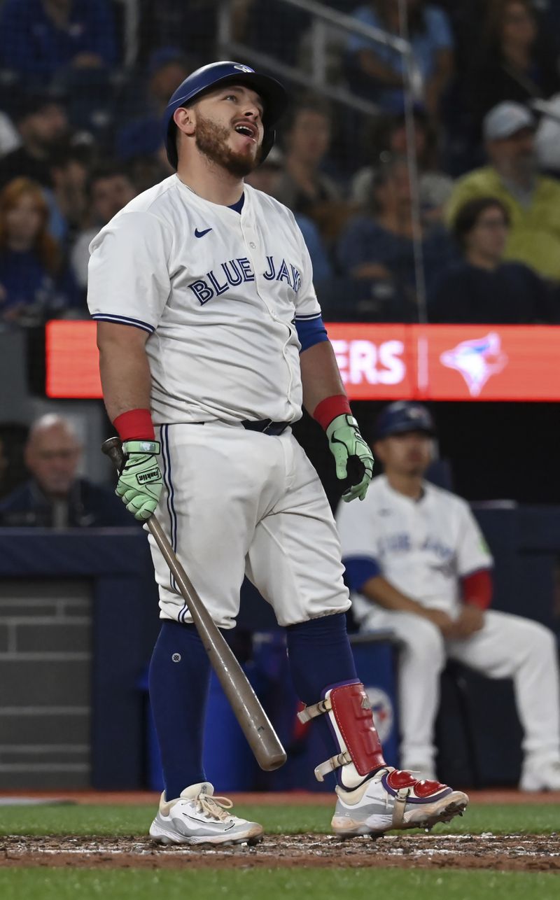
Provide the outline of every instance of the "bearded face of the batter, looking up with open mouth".
{"type": "Polygon", "coordinates": [[[263,103],[255,91],[227,85],[194,107],[196,147],[213,163],[239,178],[260,161],[263,103]]]}

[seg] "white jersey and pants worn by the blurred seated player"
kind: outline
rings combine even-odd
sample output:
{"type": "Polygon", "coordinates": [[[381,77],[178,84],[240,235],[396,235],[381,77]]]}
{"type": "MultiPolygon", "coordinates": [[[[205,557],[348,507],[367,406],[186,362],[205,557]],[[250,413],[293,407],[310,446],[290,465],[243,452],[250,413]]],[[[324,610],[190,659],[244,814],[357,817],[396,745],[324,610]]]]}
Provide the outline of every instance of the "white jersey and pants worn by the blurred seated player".
{"type": "MultiPolygon", "coordinates": [[[[341,503],[343,561],[348,570],[352,559],[371,561],[407,597],[456,618],[459,579],[487,569],[492,556],[465,500],[429,482],[423,486],[420,500],[411,500],[380,475],[363,503],[341,503]]],[[[465,639],[446,640],[438,626],[415,613],[383,608],[358,593],[352,600],[363,629],[389,629],[402,648],[398,698],[403,768],[434,770],[439,680],[447,658],[489,678],[511,678],[526,761],[560,758],[558,665],[555,637],[548,629],[488,609],[480,630],[465,639]]]]}

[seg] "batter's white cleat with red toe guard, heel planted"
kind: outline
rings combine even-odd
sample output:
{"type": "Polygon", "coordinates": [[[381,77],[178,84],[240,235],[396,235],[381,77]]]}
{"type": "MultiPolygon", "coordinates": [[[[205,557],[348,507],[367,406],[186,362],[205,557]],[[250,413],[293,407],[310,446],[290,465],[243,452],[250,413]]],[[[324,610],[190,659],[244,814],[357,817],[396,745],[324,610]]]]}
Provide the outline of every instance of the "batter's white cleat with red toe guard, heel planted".
{"type": "Polygon", "coordinates": [[[438,781],[418,781],[388,766],[354,790],[336,788],[331,827],[342,838],[383,834],[393,828],[431,828],[462,815],[468,797],[438,781]]]}

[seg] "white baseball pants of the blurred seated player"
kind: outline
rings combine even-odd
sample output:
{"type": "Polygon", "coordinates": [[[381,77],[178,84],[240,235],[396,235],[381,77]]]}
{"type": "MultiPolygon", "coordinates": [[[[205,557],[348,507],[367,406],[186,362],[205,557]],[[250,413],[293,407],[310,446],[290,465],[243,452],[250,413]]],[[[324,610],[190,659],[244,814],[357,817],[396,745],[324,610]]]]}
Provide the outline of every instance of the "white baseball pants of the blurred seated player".
{"type": "Polygon", "coordinates": [[[434,725],[439,676],[447,657],[488,678],[513,680],[526,761],[560,759],[560,688],[555,636],[531,619],[488,610],[481,631],[445,641],[437,626],[413,613],[379,607],[363,630],[391,628],[399,656],[401,765],[429,768],[435,757],[434,725]]]}

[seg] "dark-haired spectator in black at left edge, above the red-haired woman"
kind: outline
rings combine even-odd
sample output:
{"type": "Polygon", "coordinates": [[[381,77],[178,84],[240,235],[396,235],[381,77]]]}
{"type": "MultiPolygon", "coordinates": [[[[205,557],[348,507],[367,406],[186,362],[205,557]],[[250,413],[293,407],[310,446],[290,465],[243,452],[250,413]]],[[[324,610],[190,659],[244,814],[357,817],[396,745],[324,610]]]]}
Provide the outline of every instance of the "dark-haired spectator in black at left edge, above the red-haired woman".
{"type": "Polygon", "coordinates": [[[68,131],[64,106],[53,94],[26,94],[14,106],[14,120],[22,146],[0,159],[0,188],[19,177],[52,187],[54,151],[68,131]]]}

